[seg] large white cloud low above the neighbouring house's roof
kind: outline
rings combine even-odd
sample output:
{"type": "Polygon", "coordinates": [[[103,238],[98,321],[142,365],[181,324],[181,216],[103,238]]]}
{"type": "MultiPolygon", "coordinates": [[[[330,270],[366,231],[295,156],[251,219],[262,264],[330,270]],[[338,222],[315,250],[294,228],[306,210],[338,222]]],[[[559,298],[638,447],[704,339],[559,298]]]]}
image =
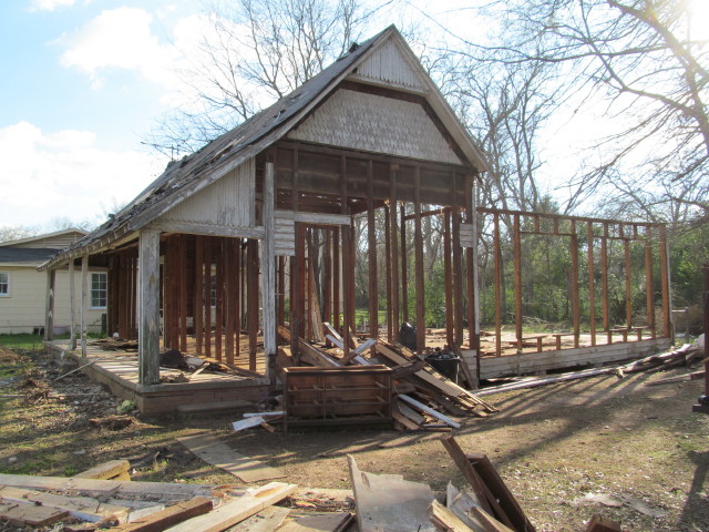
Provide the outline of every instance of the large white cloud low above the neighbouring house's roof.
{"type": "Polygon", "coordinates": [[[92,132],[44,133],[28,122],[0,129],[0,226],[103,222],[106,208],[135,197],[164,166],[136,151],[99,149],[92,132]]]}

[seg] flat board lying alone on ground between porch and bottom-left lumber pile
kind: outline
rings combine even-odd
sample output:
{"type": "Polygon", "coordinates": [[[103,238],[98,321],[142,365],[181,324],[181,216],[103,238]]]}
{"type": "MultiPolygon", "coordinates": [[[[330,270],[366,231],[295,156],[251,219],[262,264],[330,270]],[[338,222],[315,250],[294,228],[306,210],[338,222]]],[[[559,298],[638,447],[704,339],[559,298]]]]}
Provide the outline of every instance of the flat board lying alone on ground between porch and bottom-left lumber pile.
{"type": "Polygon", "coordinates": [[[258,482],[286,477],[284,471],[271,468],[259,460],[239,454],[226,442],[212,434],[186,436],[177,438],[177,441],[205,462],[238,477],[244,482],[258,482]]]}

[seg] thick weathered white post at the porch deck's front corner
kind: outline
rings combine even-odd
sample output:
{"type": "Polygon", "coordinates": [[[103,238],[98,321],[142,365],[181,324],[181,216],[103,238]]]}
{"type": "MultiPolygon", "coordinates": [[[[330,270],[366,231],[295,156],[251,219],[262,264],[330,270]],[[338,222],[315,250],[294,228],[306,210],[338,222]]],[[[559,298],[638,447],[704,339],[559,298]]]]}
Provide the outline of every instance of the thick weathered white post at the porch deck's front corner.
{"type": "Polygon", "coordinates": [[[138,244],[138,383],[160,383],[160,231],[142,229],[138,244]]]}

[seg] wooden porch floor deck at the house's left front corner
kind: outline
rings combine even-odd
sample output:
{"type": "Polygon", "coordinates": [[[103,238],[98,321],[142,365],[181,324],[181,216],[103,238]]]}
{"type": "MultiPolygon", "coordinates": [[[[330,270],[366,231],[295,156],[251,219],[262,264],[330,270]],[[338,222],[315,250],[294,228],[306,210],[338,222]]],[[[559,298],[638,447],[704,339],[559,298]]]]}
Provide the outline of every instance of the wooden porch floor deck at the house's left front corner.
{"type": "MultiPolygon", "coordinates": [[[[183,371],[178,369],[161,368],[160,385],[142,386],[137,381],[137,354],[127,350],[107,350],[100,346],[86,346],[86,356],[80,351],[71,351],[69,340],[47,341],[44,347],[49,352],[73,358],[82,371],[92,380],[104,383],[117,397],[135,401],[141,412],[146,415],[163,415],[174,411],[216,410],[238,405],[257,403],[268,396],[270,382],[266,377],[245,377],[232,374],[203,371],[191,377],[188,382],[181,379],[183,371]]],[[[264,368],[263,354],[257,368],[264,368]]],[[[239,365],[248,358],[238,357],[239,365]]]]}

